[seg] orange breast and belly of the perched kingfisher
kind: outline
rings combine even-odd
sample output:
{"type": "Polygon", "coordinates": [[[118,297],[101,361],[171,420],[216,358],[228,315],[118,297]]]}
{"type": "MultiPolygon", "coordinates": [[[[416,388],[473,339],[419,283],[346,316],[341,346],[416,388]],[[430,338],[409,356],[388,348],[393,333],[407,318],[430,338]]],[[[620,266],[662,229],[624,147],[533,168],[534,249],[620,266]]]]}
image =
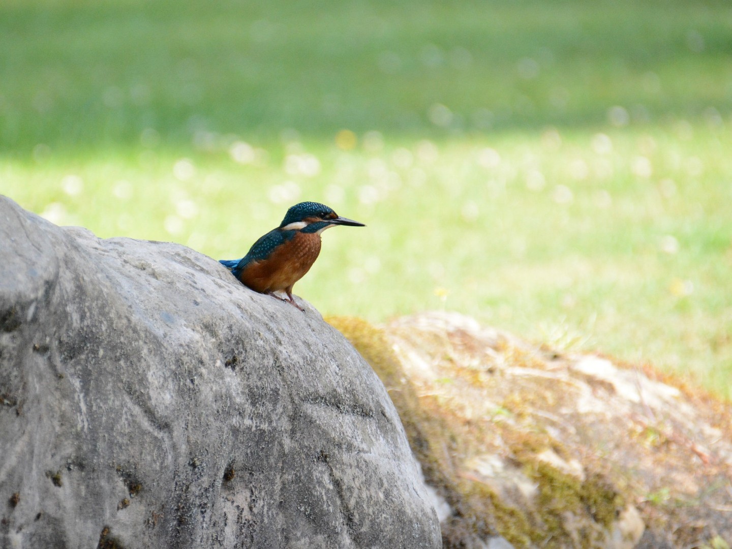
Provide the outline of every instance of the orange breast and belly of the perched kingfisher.
{"type": "Polygon", "coordinates": [[[290,288],[310,270],[320,248],[320,235],[298,231],[269,258],[249,264],[242,272],[242,283],[263,294],[290,288]]]}

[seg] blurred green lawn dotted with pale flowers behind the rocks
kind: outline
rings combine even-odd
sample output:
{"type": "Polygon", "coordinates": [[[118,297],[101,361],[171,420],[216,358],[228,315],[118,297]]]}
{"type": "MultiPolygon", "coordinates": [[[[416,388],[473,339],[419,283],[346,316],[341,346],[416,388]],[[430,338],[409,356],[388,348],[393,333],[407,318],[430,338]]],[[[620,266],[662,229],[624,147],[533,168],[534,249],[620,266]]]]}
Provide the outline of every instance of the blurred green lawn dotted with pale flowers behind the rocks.
{"type": "Polygon", "coordinates": [[[4,0],[0,193],[238,258],[303,200],[324,314],[457,310],[732,396],[732,4],[4,0]]]}

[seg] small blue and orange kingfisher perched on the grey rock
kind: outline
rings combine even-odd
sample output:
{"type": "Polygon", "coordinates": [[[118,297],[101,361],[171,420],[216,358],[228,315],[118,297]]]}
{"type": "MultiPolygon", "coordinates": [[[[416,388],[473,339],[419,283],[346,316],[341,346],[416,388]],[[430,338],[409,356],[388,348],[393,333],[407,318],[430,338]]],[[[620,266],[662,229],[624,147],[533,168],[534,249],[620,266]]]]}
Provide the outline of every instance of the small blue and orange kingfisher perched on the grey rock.
{"type": "Polygon", "coordinates": [[[365,227],[363,223],[340,217],[325,204],[301,202],[288,209],[280,226],[261,236],[241,259],[221,259],[242,284],[275,299],[284,290],[289,302],[299,310],[292,287],[305,276],[318,258],[321,233],[336,225],[365,227]]]}

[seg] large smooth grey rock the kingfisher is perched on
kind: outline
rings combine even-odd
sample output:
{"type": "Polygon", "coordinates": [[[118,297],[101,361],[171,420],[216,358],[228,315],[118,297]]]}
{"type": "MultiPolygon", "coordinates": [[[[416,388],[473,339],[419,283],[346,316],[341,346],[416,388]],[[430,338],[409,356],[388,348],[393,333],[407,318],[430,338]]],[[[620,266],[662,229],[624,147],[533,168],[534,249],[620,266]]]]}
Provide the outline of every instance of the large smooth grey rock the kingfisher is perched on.
{"type": "Polygon", "coordinates": [[[306,308],[0,198],[1,547],[440,547],[384,386],[306,308]]]}

